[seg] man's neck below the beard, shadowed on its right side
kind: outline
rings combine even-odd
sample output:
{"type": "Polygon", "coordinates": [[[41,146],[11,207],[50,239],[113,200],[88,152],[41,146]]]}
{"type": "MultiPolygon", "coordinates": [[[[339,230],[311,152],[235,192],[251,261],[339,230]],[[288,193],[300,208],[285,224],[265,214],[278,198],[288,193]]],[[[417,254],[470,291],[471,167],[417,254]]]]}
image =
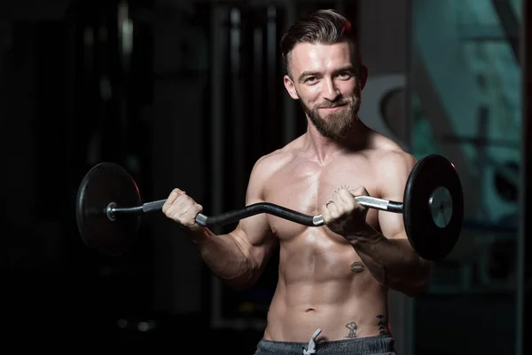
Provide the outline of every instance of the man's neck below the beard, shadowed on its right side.
{"type": "Polygon", "coordinates": [[[318,163],[326,164],[338,154],[366,148],[368,134],[368,127],[356,119],[346,138],[327,138],[308,120],[305,149],[316,156],[318,163]]]}

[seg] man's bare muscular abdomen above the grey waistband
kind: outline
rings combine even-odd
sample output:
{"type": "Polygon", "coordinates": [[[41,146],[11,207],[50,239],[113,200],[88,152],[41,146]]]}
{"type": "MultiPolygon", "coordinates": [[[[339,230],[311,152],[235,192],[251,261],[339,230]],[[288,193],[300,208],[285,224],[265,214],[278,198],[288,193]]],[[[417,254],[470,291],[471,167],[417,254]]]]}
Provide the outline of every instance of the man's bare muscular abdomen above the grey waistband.
{"type": "Polygon", "coordinates": [[[317,328],[330,341],[387,334],[387,289],[364,264],[352,271],[355,262],[355,249],[323,230],[281,241],[264,339],[309,342],[317,328]]]}

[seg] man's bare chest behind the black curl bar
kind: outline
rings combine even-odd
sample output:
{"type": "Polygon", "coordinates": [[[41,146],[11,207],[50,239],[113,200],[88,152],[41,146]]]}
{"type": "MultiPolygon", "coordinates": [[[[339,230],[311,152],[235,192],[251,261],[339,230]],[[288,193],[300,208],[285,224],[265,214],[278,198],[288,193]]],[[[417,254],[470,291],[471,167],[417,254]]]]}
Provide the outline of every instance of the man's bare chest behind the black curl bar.
{"type": "MultiPolygon", "coordinates": [[[[379,185],[376,180],[371,163],[362,159],[342,160],[325,167],[311,162],[294,163],[279,170],[270,179],[264,198],[267,202],[287,209],[317,216],[322,213],[327,201],[342,187],[354,190],[364,186],[370,195],[379,197],[379,185]]],[[[270,227],[280,240],[287,241],[306,232],[315,234],[315,231],[309,229],[316,227],[298,225],[272,215],[269,215],[268,219],[270,227]]],[[[377,219],[377,211],[370,210],[367,221],[379,230],[377,219]]]]}

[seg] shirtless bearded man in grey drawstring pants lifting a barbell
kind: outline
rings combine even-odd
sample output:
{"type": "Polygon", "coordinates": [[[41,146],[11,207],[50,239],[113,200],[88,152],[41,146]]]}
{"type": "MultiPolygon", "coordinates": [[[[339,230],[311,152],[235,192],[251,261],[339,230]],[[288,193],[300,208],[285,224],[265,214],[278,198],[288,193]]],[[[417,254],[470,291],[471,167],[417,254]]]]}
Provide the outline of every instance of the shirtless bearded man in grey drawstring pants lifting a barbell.
{"type": "Polygon", "coordinates": [[[364,209],[354,196],[402,201],[416,160],[358,119],[367,68],[348,20],[316,12],[288,29],[281,49],[286,91],[301,102],[308,130],[258,159],[246,205],[322,214],[325,226],[261,214],[215,235],[194,223],[202,208],[179,189],[162,210],[234,288],[252,287],[280,243],[278,285],[256,354],[395,353],[387,290],[423,292],[430,263],[411,248],[401,214],[364,209]]]}

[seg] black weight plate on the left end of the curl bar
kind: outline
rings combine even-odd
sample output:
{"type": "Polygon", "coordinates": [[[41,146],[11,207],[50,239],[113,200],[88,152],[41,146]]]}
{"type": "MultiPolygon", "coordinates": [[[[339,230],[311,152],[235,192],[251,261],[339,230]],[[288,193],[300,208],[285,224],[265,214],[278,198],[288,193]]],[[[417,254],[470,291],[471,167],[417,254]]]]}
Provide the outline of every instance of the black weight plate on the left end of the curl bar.
{"type": "Polygon", "coordinates": [[[119,256],[134,241],[139,217],[120,215],[110,220],[107,206],[140,205],[137,184],[120,165],[102,162],[87,172],[78,188],[76,220],[82,241],[108,256],[119,256]]]}

